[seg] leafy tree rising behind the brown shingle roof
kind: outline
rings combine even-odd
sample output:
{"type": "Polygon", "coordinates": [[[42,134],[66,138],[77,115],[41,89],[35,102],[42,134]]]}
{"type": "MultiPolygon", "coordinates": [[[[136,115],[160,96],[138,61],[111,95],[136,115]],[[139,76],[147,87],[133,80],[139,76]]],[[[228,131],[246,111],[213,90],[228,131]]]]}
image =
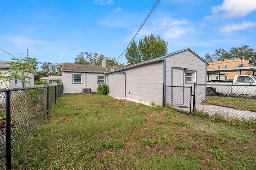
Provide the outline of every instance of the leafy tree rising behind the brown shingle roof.
{"type": "Polygon", "coordinates": [[[75,62],[77,64],[90,64],[90,65],[101,65],[102,60],[106,60],[106,65],[116,65],[116,66],[124,66],[123,63],[119,63],[115,61],[112,57],[105,57],[103,54],[98,55],[98,53],[92,52],[80,52],[80,55],[77,55],[75,58],[75,62]]]}

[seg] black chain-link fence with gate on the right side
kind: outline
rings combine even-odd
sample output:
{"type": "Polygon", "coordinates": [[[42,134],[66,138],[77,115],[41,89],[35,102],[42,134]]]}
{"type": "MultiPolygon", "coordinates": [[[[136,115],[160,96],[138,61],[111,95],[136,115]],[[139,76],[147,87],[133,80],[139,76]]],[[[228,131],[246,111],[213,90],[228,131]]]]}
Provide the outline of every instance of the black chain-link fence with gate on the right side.
{"type": "Polygon", "coordinates": [[[255,85],[163,85],[163,103],[187,114],[198,112],[227,121],[256,122],[255,85]]]}

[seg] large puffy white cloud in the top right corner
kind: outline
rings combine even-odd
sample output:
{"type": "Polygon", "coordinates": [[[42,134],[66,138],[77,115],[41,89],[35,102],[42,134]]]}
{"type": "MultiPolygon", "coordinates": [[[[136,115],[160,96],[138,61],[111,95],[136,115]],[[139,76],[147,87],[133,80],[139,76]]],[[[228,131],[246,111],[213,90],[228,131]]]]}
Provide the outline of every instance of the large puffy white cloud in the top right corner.
{"type": "Polygon", "coordinates": [[[224,0],[223,4],[212,7],[213,16],[207,16],[205,19],[241,18],[254,10],[256,10],[254,0],[224,0]]]}

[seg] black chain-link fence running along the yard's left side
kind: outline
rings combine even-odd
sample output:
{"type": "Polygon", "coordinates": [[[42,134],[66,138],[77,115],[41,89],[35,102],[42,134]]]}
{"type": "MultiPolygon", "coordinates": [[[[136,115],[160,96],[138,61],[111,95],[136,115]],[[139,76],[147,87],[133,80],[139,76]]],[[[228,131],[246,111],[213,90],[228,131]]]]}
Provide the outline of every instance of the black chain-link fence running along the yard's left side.
{"type": "Polygon", "coordinates": [[[48,117],[62,85],[0,89],[0,169],[18,163],[30,135],[48,117]]]}

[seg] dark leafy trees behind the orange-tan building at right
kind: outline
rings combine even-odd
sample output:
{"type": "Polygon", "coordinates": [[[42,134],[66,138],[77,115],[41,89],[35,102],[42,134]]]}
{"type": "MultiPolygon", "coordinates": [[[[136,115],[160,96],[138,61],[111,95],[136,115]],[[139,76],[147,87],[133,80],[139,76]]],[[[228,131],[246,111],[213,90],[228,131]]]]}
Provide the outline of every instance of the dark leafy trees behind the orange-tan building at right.
{"type": "Polygon", "coordinates": [[[253,48],[249,48],[248,45],[232,47],[229,51],[226,49],[215,49],[212,55],[209,53],[204,54],[204,59],[208,62],[234,58],[246,59],[256,65],[256,51],[253,48]]]}

